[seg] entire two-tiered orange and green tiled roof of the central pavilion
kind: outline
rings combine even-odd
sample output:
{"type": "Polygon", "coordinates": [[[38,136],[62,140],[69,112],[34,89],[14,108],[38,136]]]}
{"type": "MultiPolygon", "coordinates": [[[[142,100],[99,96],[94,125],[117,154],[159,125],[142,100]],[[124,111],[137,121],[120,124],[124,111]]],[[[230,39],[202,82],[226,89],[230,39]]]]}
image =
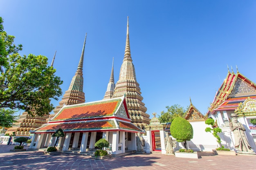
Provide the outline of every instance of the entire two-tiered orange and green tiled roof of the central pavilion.
{"type": "Polygon", "coordinates": [[[130,121],[125,95],[114,99],[64,106],[48,124],[32,133],[55,132],[58,128],[62,128],[64,132],[109,130],[143,132],[130,121]]]}

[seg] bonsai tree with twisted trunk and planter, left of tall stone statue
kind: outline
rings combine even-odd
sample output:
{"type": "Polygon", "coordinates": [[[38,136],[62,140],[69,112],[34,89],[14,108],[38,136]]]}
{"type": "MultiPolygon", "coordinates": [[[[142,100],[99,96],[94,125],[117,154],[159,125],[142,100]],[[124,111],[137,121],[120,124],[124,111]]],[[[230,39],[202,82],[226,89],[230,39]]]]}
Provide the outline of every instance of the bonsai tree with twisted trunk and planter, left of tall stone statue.
{"type": "Polygon", "coordinates": [[[224,148],[221,144],[221,139],[218,135],[218,133],[222,132],[221,128],[218,127],[217,120],[214,121],[212,118],[208,118],[205,121],[205,124],[210,125],[210,127],[205,128],[206,132],[212,132],[213,136],[216,137],[216,141],[219,144],[219,148],[213,149],[213,153],[215,155],[236,155],[236,152],[231,152],[230,149],[224,148]]]}

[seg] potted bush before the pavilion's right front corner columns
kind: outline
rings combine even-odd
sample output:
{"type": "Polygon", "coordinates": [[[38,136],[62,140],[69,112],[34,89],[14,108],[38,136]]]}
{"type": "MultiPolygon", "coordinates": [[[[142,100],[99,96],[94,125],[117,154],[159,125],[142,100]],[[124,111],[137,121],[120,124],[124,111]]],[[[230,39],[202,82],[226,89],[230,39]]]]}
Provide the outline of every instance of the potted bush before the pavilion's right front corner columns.
{"type": "Polygon", "coordinates": [[[109,146],[109,143],[106,139],[99,139],[99,141],[97,141],[94,146],[101,149],[94,152],[94,155],[91,156],[92,159],[108,159],[112,157],[111,155],[108,155],[106,150],[103,150],[109,146]]]}

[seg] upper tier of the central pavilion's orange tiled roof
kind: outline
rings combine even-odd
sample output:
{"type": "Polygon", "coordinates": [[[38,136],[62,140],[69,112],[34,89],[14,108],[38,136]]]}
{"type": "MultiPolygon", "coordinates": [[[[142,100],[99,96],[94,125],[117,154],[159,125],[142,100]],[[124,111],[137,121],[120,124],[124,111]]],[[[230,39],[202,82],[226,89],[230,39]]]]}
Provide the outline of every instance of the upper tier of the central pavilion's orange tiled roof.
{"type": "Polygon", "coordinates": [[[59,113],[49,122],[95,119],[100,117],[119,116],[130,119],[125,109],[125,97],[100,100],[83,104],[63,106],[59,113]]]}

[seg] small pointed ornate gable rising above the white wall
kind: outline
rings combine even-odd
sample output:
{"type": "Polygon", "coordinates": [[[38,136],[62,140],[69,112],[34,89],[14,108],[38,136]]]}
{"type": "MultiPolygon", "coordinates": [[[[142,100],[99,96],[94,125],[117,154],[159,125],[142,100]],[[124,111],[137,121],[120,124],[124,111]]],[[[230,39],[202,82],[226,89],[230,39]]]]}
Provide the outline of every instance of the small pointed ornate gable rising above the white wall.
{"type": "Polygon", "coordinates": [[[205,121],[204,115],[192,104],[190,99],[190,106],[184,117],[187,121],[205,121]]]}

